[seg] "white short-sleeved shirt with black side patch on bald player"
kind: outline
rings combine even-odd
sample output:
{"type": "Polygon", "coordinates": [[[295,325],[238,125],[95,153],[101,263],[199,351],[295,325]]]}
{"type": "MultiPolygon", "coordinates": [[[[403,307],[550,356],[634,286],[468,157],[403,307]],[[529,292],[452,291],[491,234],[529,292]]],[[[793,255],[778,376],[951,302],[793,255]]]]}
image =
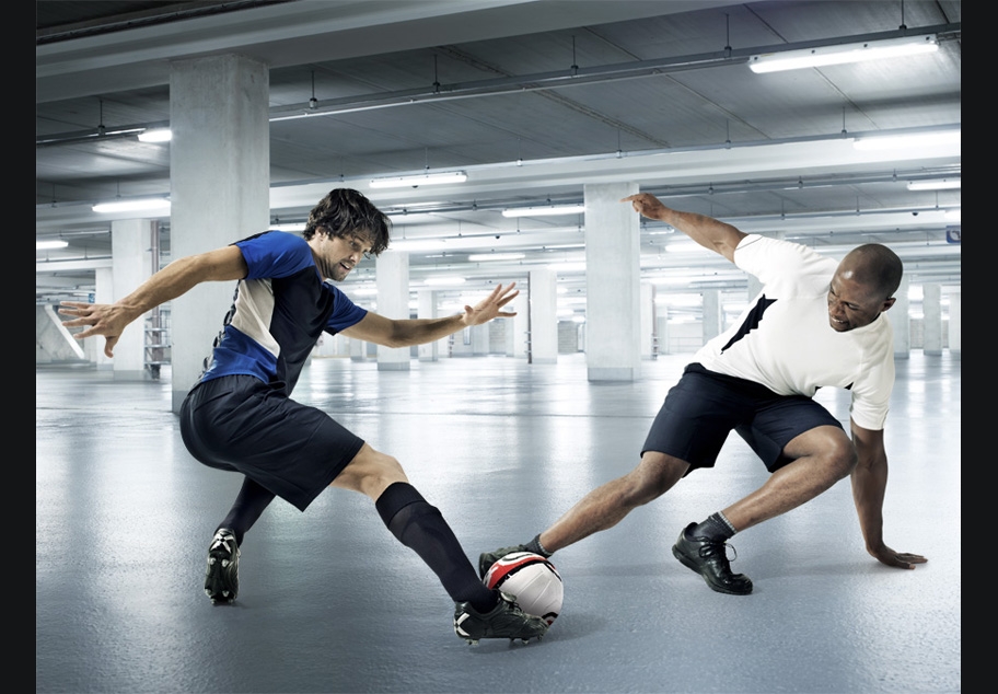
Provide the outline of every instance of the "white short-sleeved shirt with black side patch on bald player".
{"type": "Polygon", "coordinates": [[[695,360],[781,395],[813,397],[822,386],[848,389],[852,420],[883,429],[894,386],[894,333],[886,315],[835,331],[827,294],[838,262],[808,246],[750,234],[735,248],[734,263],[755,275],[763,290],[695,360]]]}

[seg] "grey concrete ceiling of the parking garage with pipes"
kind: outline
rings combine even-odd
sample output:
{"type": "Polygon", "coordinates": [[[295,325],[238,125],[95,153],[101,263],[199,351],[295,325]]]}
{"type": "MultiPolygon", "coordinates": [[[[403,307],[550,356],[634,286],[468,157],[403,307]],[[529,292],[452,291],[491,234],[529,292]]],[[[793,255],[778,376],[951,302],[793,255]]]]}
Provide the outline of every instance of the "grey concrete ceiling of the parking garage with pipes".
{"type": "MultiPolygon", "coordinates": [[[[960,222],[943,216],[959,212],[960,189],[906,187],[959,178],[960,146],[852,147],[864,134],[960,127],[959,1],[40,0],[36,8],[36,236],[70,242],[38,253],[39,302],[93,290],[93,267],[111,253],[109,219],[92,212],[93,203],[170,194],[170,146],[135,137],[169,125],[170,62],[227,53],[270,66],[272,220],[303,221],[330,187],[357,188],[393,213],[414,289],[446,274],[465,277],[474,292],[487,280],[583,259],[581,215],[518,222],[500,211],[582,201],[585,184],[610,182],[835,255],[887,243],[914,285],[960,285],[960,244],[951,242],[960,222]],[[940,50],[773,74],[746,67],[751,55],[778,48],[902,33],[936,34],[940,50]],[[372,176],[427,169],[460,169],[468,181],[369,186],[372,176]],[[468,261],[492,251],[524,257],[468,261]]],[[[169,218],[160,228],[169,259],[169,218]]],[[[671,291],[744,289],[744,275],[723,259],[671,252],[681,234],[669,231],[643,228],[646,277],[680,280],[671,291]]],[[[373,277],[373,264],[356,275],[348,284],[373,277]]],[[[583,270],[559,271],[559,282],[584,298],[583,270]]]]}

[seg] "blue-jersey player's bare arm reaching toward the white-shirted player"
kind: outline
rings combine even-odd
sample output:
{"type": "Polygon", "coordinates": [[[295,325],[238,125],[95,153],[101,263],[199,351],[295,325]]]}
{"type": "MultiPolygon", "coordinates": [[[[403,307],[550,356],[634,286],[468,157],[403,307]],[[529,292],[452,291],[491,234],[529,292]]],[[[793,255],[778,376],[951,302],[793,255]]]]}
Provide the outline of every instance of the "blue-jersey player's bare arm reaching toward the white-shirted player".
{"type": "Polygon", "coordinates": [[[409,347],[425,345],[446,337],[465,327],[488,323],[495,317],[517,315],[513,311],[500,311],[512,301],[520,290],[513,291],[517,282],[503,287],[498,285],[492,292],[475,306],[464,306],[464,313],[445,319],[407,319],[394,321],[376,313],[368,313],[359,323],[343,331],[347,337],[355,337],[385,347],[409,347]]]}

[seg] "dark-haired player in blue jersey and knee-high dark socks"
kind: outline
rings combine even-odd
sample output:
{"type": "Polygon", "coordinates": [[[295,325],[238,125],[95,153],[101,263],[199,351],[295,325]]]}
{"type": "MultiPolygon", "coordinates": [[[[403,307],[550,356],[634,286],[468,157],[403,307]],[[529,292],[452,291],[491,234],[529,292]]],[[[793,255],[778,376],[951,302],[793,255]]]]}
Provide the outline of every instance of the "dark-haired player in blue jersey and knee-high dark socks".
{"type": "Polygon", "coordinates": [[[233,305],[181,407],[187,450],[211,467],[244,475],[208,551],[205,592],[216,603],[239,593],[240,545],[275,496],[304,511],[328,486],[369,496],[388,530],[437,574],[454,600],[453,626],[479,638],[541,637],[547,624],[509,597],[488,590],[440,511],[409,484],[398,461],[372,448],[329,415],[291,400],[323,333],[387,347],[431,343],[495,317],[519,293],[499,285],[475,306],[443,319],[392,320],[357,306],[332,282],[388,245],[391,223],[367,197],[332,190],[311,211],[302,236],[263,232],[229,246],[172,262],[113,304],[62,302],[84,326],[82,339],[103,335],[104,354],[147,311],[206,281],[236,281],[233,305]]]}

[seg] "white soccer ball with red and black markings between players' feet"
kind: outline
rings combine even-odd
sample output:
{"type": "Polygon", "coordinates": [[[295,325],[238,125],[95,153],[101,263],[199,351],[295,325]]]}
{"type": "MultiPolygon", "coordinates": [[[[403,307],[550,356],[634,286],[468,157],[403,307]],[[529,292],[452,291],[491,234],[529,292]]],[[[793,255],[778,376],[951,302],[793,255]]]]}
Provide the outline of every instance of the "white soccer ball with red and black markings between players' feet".
{"type": "Polygon", "coordinates": [[[548,559],[532,552],[513,552],[492,564],[483,579],[488,588],[515,595],[526,613],[541,617],[548,626],[561,612],[565,586],[561,575],[548,559]]]}

